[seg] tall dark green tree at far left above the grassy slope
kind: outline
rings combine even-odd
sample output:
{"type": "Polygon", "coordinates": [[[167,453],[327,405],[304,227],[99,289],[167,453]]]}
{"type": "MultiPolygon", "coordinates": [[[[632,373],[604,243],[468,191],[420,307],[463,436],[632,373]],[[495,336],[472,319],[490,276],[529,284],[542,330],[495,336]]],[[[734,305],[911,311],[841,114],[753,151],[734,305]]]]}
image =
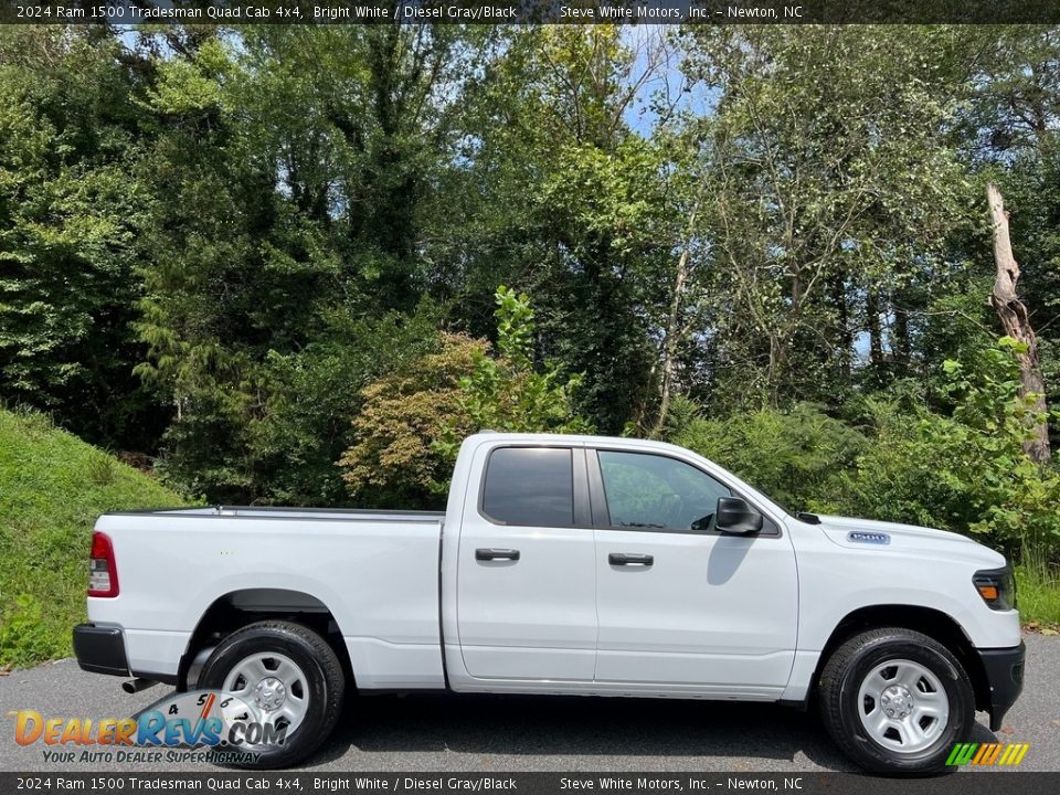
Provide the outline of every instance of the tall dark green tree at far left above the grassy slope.
{"type": "Polygon", "coordinates": [[[158,426],[131,377],[145,138],[113,36],[0,31],[0,393],[97,443],[158,426]]]}

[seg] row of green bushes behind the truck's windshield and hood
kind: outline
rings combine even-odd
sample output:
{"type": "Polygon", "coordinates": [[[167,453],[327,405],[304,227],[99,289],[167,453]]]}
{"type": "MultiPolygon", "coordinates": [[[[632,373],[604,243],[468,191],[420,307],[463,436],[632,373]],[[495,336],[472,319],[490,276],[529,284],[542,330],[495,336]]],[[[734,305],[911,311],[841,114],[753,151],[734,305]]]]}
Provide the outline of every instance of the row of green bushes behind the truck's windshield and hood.
{"type": "Polygon", "coordinates": [[[1014,556],[1060,553],[1060,473],[1022,443],[1041,417],[1019,394],[1020,343],[943,365],[937,403],[897,384],[862,401],[859,427],[801,404],[704,420],[681,404],[671,439],[782,504],[981,536],[1014,556]]]}

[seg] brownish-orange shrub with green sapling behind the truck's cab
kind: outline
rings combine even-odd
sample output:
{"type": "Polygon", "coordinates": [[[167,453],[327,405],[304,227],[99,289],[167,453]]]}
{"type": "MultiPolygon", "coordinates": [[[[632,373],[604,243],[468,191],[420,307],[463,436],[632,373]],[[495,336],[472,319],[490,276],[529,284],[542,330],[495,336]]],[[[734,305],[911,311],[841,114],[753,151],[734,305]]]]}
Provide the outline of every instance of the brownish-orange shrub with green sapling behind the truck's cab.
{"type": "Polygon", "coordinates": [[[361,392],[356,444],[339,460],[356,496],[441,508],[468,434],[592,431],[574,410],[581,375],[533,361],[527,296],[501,286],[496,298],[497,356],[486,340],[443,332],[430,353],[361,392]]]}

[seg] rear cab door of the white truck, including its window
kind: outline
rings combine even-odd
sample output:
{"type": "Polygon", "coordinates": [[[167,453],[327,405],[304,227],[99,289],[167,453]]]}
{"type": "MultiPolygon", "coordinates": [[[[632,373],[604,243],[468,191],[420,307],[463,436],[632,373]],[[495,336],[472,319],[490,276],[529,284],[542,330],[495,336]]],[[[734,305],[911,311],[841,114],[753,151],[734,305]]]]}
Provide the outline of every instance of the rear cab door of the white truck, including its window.
{"type": "Polygon", "coordinates": [[[481,679],[591,681],[596,555],[580,446],[479,448],[460,527],[457,626],[481,679]]]}

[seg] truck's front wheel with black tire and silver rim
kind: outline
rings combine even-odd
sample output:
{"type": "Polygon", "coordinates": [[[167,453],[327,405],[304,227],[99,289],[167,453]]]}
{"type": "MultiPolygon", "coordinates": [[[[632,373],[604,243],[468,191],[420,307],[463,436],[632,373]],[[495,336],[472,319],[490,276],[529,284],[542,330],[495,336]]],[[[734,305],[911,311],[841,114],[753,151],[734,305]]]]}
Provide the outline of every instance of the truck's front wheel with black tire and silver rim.
{"type": "MultiPolygon", "coordinates": [[[[936,696],[932,689],[934,685],[930,677],[920,680],[918,689],[924,690],[924,699],[936,696]]],[[[897,682],[897,678],[894,679],[897,682]]],[[[895,687],[903,687],[895,685],[895,687]]],[[[890,690],[890,688],[888,688],[890,690]]],[[[912,692],[915,703],[919,693],[899,691],[898,700],[894,692],[887,693],[889,703],[886,707],[901,716],[908,707],[904,693],[912,692]],[[897,707],[895,707],[897,704],[897,707]]],[[[825,728],[836,744],[860,767],[888,775],[930,775],[951,771],[946,760],[955,743],[967,740],[975,723],[975,696],[972,682],[961,662],[945,646],[918,632],[900,627],[872,629],[851,637],[831,655],[825,664],[818,680],[818,696],[820,716],[825,728]],[[926,731],[921,724],[920,736],[909,733],[909,750],[895,748],[904,742],[909,731],[908,721],[915,718],[915,712],[898,722],[905,721],[905,727],[895,729],[892,716],[884,713],[882,696],[877,704],[872,696],[862,696],[862,685],[871,689],[870,677],[879,674],[880,681],[887,679],[891,670],[887,667],[895,661],[895,672],[903,669],[915,676],[916,666],[932,674],[941,686],[941,691],[947,700],[948,714],[945,721],[939,718],[925,717],[926,731]],[[912,662],[913,665],[904,665],[912,662]],[[879,711],[877,711],[879,710],[879,711]],[[862,718],[862,716],[865,716],[862,718]],[[939,721],[934,724],[933,721],[939,721]],[[887,725],[880,735],[880,730],[870,731],[866,722],[887,725]],[[939,727],[942,727],[941,729],[939,727]],[[931,732],[931,734],[929,734],[931,732]],[[924,748],[916,748],[918,742],[930,742],[924,748]],[[886,743],[886,744],[884,744],[886,743]]]]}

